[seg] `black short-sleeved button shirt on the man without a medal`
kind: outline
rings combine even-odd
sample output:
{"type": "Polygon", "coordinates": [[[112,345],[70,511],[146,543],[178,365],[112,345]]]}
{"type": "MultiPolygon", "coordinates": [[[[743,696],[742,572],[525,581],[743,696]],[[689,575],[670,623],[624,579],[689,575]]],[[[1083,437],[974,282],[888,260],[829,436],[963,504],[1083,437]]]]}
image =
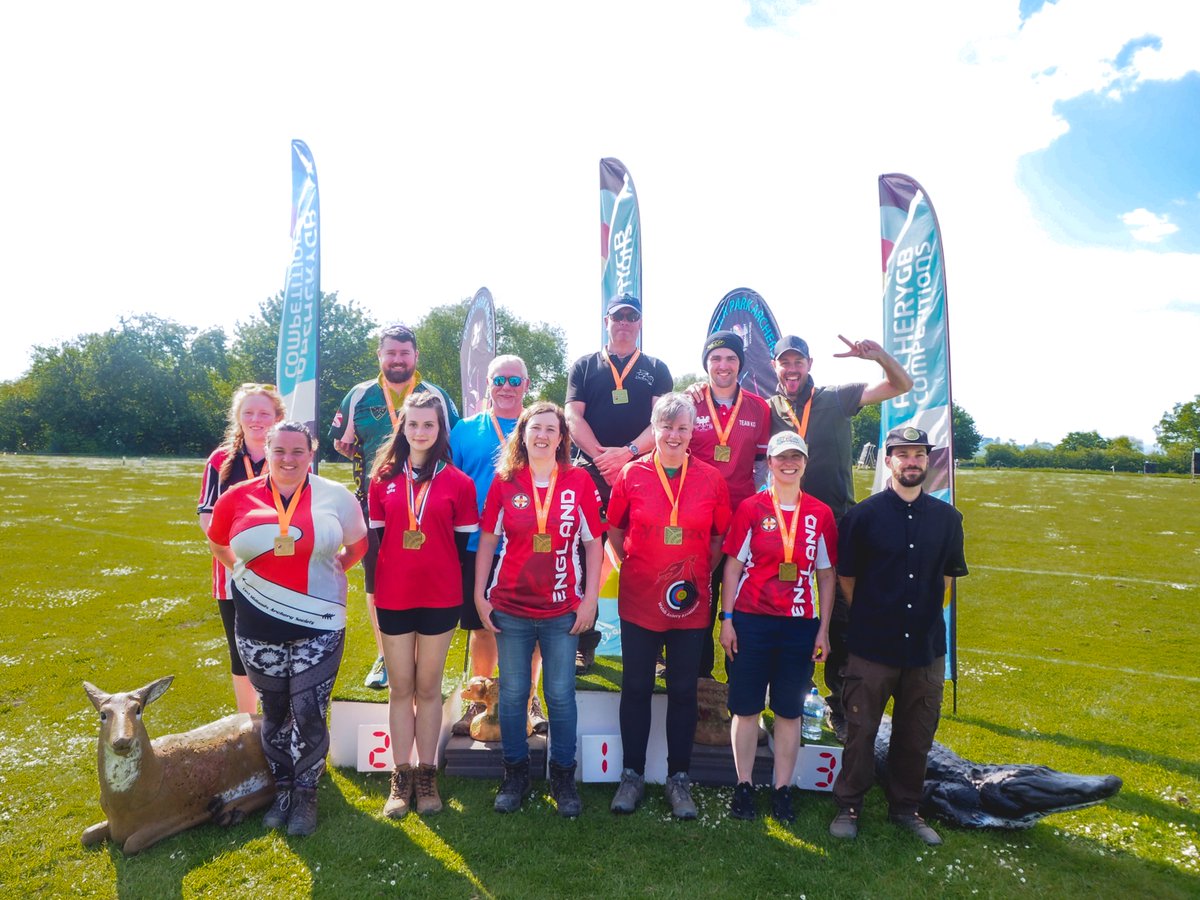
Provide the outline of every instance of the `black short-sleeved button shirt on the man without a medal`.
{"type": "Polygon", "coordinates": [[[846,512],[838,532],[838,574],[854,578],[850,652],[900,668],[946,655],[944,576],[967,574],[962,514],[889,488],[846,512]]]}

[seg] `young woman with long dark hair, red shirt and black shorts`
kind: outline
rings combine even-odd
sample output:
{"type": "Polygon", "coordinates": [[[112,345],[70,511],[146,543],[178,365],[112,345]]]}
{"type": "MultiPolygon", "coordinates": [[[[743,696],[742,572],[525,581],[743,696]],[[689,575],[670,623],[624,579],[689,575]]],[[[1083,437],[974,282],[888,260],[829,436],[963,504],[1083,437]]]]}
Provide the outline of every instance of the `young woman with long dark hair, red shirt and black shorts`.
{"type": "Polygon", "coordinates": [[[379,529],[374,606],[396,764],[383,814],[402,817],[414,793],[418,812],[438,812],[442,673],[462,607],[458,557],[467,534],[479,529],[479,514],[475,485],[450,464],[437,394],[409,394],[404,401],[395,433],[376,455],[367,511],[368,524],[379,529]]]}

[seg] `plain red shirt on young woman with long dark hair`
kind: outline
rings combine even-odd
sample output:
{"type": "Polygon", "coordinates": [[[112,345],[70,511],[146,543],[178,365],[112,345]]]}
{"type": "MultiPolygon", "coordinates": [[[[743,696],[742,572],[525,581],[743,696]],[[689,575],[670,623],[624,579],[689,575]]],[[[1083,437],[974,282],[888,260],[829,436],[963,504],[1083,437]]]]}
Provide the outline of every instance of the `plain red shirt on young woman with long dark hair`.
{"type": "MultiPolygon", "coordinates": [[[[454,466],[444,466],[427,482],[420,530],[425,540],[404,550],[408,530],[408,484],[404,473],[367,490],[368,524],[383,528],[376,563],[376,606],[380,610],[449,608],[462,605],[462,569],[455,532],[478,532],[475,485],[454,466]]],[[[414,485],[414,499],[421,485],[414,485]]]]}

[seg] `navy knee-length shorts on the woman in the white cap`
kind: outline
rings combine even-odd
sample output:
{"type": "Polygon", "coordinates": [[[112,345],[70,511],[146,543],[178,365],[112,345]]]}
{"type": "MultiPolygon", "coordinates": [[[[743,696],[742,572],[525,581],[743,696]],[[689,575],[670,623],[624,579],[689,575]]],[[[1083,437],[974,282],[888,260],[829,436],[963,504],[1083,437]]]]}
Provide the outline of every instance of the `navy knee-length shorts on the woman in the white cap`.
{"type": "Polygon", "coordinates": [[[726,665],[730,712],[757,715],[766,706],[769,686],[772,712],[782,719],[799,719],[812,679],[812,647],[820,628],[820,619],[734,610],[738,654],[726,665]]]}

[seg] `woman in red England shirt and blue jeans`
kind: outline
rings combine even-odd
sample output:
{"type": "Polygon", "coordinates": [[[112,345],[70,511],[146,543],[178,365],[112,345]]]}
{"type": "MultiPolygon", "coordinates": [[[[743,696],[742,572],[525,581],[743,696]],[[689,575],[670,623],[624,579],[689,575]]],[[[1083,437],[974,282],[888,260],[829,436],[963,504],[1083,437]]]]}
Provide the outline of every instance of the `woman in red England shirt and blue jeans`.
{"type": "Polygon", "coordinates": [[[497,812],[514,812],[529,793],[527,709],[529,662],[541,649],[550,713],[550,790],[560,816],[582,811],[575,787],[575,652],[593,626],[600,593],[600,494],[569,461],[563,410],[540,402],[521,413],[484,502],[475,554],[475,607],[496,634],[500,664],[504,780],[497,812]],[[500,560],[487,583],[500,538],[500,560]],[[584,582],[578,571],[583,545],[584,582]]]}

